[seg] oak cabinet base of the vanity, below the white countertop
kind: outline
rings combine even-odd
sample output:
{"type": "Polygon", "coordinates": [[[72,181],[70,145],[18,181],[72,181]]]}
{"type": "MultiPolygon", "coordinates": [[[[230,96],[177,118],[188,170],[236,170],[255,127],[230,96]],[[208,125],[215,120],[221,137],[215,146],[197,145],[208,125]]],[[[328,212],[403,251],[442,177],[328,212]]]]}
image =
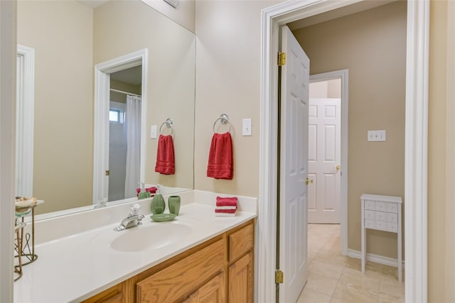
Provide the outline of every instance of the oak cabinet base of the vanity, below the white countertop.
{"type": "Polygon", "coordinates": [[[253,231],[247,221],[84,302],[252,302],[253,231]]]}

